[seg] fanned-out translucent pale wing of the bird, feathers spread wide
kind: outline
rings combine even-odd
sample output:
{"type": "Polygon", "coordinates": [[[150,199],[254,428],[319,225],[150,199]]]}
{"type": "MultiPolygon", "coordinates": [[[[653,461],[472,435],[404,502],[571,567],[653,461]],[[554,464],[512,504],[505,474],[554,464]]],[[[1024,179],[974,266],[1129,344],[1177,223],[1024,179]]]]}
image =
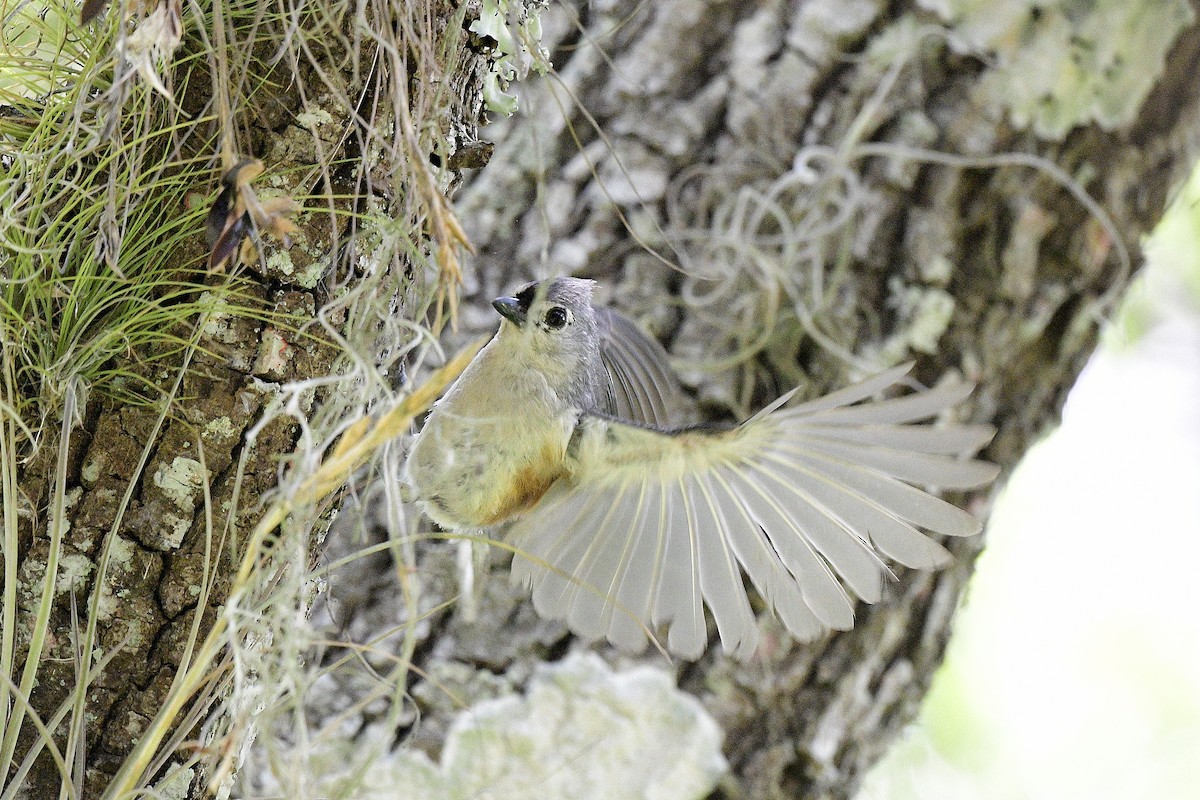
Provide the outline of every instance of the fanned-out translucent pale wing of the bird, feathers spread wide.
{"type": "Polygon", "coordinates": [[[976,488],[997,474],[968,459],[990,426],[917,423],[965,398],[968,384],[869,399],[906,372],[720,432],[584,417],[572,475],[511,530],[514,581],[533,588],[544,616],[626,650],[666,624],[667,649],[697,657],[707,604],[725,650],[748,657],[758,632],[743,571],[797,638],[850,628],[846,589],[878,600],[882,557],[941,566],[949,553],[923,530],[980,530],[913,485],[976,488]]]}

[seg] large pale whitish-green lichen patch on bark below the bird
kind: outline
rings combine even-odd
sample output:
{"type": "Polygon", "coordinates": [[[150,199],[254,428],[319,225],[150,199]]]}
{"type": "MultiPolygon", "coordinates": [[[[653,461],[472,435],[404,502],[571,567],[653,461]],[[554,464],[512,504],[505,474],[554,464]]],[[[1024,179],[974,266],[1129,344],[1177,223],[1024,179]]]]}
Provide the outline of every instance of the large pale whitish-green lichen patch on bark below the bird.
{"type": "MultiPolygon", "coordinates": [[[[354,752],[391,739],[377,730],[354,752]]],[[[354,770],[349,753],[317,758],[317,774],[337,786],[354,770]]],[[[401,750],[374,760],[354,792],[361,800],[467,798],[707,796],[727,765],[721,732],[670,673],[652,667],[613,672],[594,654],[538,668],[524,697],[488,699],[452,723],[440,763],[401,750]]]]}

